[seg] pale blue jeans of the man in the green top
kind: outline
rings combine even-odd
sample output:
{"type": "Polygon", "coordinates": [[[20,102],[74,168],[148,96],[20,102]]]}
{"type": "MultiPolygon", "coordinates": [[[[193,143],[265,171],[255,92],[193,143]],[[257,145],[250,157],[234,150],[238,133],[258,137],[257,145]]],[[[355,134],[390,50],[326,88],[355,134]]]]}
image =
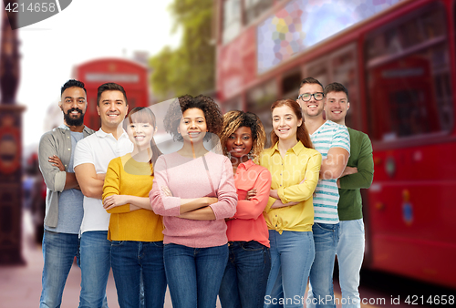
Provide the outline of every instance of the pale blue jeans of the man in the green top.
{"type": "Polygon", "coordinates": [[[359,271],[364,258],[364,222],[339,222],[339,242],[337,262],[339,264],[339,283],[342,289],[342,307],[359,308],[358,293],[359,271]]]}

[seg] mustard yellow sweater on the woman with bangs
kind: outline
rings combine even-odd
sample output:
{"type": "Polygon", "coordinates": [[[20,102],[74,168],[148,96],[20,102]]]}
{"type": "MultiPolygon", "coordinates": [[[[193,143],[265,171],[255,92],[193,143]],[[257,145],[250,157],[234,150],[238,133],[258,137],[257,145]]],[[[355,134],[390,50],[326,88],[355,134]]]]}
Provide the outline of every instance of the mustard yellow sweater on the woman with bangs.
{"type": "MultiPolygon", "coordinates": [[[[130,154],[109,162],[103,186],[103,200],[110,195],[149,199],[153,176],[149,162],[138,162],[130,154]]],[[[130,204],[108,210],[109,241],[163,241],[161,216],[150,210],[131,210],[130,204]]]]}

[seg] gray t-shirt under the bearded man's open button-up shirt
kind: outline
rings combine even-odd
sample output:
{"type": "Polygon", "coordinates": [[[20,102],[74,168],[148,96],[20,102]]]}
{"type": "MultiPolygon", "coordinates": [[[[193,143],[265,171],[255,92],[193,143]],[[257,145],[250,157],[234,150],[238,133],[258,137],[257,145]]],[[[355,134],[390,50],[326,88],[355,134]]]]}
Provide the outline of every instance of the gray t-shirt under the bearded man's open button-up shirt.
{"type": "MultiPolygon", "coordinates": [[[[69,160],[67,172],[75,172],[73,169],[74,149],[80,139],[83,139],[83,133],[71,132],[71,159],[69,160]]],[[[57,228],[50,228],[45,225],[47,231],[78,234],[84,217],[84,208],[82,202],[84,195],[81,190],[63,190],[58,200],[58,224],[57,228]]]]}

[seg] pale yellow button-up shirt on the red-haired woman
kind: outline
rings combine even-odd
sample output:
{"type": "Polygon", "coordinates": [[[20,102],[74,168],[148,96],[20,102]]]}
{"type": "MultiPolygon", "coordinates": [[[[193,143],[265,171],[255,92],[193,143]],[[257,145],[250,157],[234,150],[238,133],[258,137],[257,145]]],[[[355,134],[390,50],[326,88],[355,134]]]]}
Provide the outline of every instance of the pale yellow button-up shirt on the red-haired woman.
{"type": "Polygon", "coordinates": [[[269,197],[263,215],[269,230],[312,231],[314,206],[312,195],[318,182],[321,154],[307,149],[301,141],[286,151],[282,158],[278,142],[271,149],[264,149],[260,165],[271,172],[271,190],[277,190],[283,203],[298,202],[293,206],[271,209],[275,198],[269,197]],[[300,182],[306,179],[302,184],[300,182]]]}

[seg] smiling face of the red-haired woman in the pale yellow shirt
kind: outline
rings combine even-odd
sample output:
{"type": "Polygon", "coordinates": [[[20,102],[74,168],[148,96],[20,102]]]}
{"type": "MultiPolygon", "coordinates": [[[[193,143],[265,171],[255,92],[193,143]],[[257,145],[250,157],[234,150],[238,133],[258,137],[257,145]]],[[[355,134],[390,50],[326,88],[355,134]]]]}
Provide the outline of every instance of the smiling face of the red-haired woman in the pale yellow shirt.
{"type": "Polygon", "coordinates": [[[296,140],[297,128],[303,124],[298,119],[292,108],[286,105],[276,107],[273,110],[273,128],[279,140],[296,140]]]}

